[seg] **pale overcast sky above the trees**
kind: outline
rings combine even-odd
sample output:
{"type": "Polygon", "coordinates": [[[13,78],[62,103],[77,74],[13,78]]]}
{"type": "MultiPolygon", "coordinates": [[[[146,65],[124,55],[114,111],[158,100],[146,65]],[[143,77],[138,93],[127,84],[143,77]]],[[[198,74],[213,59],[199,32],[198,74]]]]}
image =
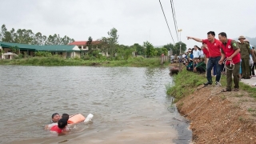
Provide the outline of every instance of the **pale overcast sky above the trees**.
{"type": "MultiPolygon", "coordinates": [[[[0,0],[0,24],[8,30],[60,34],[76,41],[107,37],[118,30],[118,43],[149,41],[162,46],[173,40],[158,0],[0,0]]],[[[170,0],[161,0],[174,42],[177,36],[170,0]]],[[[206,38],[206,33],[226,32],[229,38],[256,37],[256,0],[174,0],[178,29],[187,47],[200,45],[186,36],[206,38]]]]}

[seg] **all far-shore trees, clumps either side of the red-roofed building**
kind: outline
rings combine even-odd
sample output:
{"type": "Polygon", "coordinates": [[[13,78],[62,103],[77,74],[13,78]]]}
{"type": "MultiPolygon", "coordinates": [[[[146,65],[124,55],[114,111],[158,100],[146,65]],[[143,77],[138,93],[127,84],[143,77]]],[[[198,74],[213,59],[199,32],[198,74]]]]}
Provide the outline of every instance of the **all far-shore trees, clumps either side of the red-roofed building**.
{"type": "MultiPolygon", "coordinates": [[[[161,48],[155,48],[150,42],[143,42],[142,45],[134,43],[132,46],[125,46],[118,43],[118,30],[115,28],[110,29],[107,32],[107,37],[97,39],[97,44],[94,43],[93,38],[89,37],[86,42],[89,50],[86,53],[82,53],[82,57],[100,57],[100,53],[107,53],[111,58],[130,58],[134,55],[141,55],[143,57],[152,58],[155,56],[167,55],[168,50],[172,50],[173,54],[179,54],[179,46],[182,45],[182,51],[186,50],[186,44],[178,42],[176,44],[166,44],[161,48]],[[95,46],[97,45],[97,46],[95,46]]],[[[73,38],[64,36],[61,38],[59,34],[42,35],[38,32],[34,34],[32,30],[18,29],[7,30],[6,25],[2,25],[0,32],[0,42],[14,42],[30,45],[67,45],[70,42],[74,42],[73,38]]]]}

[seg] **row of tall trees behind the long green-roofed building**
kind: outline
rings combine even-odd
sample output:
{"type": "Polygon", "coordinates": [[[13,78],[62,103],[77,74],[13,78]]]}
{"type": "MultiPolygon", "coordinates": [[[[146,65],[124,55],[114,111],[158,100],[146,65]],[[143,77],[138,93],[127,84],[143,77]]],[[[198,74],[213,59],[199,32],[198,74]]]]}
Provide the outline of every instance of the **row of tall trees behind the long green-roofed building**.
{"type": "Polygon", "coordinates": [[[18,29],[7,30],[6,25],[1,26],[0,31],[1,42],[13,42],[30,45],[67,45],[70,42],[74,42],[73,38],[68,36],[60,37],[59,34],[43,35],[41,32],[34,33],[32,30],[18,29]]]}

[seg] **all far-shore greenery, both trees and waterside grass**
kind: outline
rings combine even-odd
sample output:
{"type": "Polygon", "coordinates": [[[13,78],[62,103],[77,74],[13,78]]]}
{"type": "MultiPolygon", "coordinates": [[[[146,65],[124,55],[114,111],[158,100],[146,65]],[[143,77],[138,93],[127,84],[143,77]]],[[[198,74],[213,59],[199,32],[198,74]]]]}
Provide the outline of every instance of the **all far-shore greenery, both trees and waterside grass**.
{"type": "MultiPolygon", "coordinates": [[[[0,50],[0,54],[5,49],[18,54],[18,57],[12,60],[0,59],[0,65],[22,65],[22,66],[168,66],[169,62],[161,62],[162,54],[168,55],[168,50],[172,50],[173,54],[179,54],[180,49],[186,50],[186,44],[178,42],[176,44],[166,44],[165,46],[153,46],[150,42],[143,42],[143,45],[134,43],[132,46],[125,46],[118,43],[118,30],[115,28],[107,32],[107,37],[99,38],[93,41],[89,37],[86,41],[88,50],[80,51],[80,58],[62,58],[59,53],[62,51],[35,51],[32,57],[26,52],[17,53],[20,48],[18,46],[4,47],[0,50]],[[53,55],[54,54],[54,55],[53,55]],[[107,55],[105,57],[103,55],[107,55]]],[[[34,34],[32,30],[18,29],[7,30],[6,25],[2,25],[0,31],[0,42],[11,42],[27,45],[67,45],[74,42],[73,38],[59,34],[42,35],[40,32],[34,34]]],[[[24,47],[23,47],[24,48],[24,47]]],[[[64,50],[65,51],[65,50],[64,50]]],[[[63,52],[64,52],[63,51],[63,52]]]]}

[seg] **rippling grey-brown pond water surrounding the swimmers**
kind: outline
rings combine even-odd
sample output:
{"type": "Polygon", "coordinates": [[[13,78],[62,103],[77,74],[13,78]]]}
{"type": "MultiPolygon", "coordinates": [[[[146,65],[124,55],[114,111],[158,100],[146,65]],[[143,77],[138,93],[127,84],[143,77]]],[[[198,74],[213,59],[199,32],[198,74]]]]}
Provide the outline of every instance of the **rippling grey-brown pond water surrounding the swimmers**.
{"type": "Polygon", "coordinates": [[[5,131],[0,143],[172,143],[178,138],[175,126],[182,122],[174,120],[177,110],[168,110],[168,69],[0,66],[0,74],[5,131]],[[43,130],[54,112],[91,113],[94,122],[56,137],[43,130]]]}

